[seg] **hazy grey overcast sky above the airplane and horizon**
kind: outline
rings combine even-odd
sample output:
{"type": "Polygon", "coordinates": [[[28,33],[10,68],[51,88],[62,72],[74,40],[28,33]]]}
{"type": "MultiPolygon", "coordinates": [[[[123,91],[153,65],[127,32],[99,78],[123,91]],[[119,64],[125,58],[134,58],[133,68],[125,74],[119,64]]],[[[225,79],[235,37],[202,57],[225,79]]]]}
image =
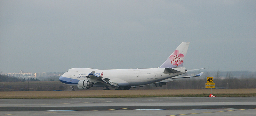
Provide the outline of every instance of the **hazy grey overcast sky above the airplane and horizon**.
{"type": "Polygon", "coordinates": [[[0,1],[0,71],[161,66],[255,71],[256,1],[0,1]]]}

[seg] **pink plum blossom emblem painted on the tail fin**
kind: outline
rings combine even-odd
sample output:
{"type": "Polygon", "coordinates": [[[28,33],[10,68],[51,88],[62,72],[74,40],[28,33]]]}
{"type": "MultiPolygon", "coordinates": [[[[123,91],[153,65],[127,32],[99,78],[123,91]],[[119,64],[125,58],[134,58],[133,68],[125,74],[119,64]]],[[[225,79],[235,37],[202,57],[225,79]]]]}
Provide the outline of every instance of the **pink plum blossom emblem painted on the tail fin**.
{"type": "Polygon", "coordinates": [[[181,54],[179,50],[175,50],[173,54],[170,56],[170,60],[172,65],[179,66],[181,63],[183,63],[183,60],[180,60],[180,58],[183,58],[184,54],[181,54]]]}

